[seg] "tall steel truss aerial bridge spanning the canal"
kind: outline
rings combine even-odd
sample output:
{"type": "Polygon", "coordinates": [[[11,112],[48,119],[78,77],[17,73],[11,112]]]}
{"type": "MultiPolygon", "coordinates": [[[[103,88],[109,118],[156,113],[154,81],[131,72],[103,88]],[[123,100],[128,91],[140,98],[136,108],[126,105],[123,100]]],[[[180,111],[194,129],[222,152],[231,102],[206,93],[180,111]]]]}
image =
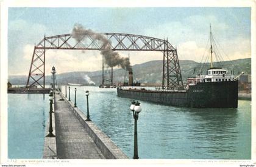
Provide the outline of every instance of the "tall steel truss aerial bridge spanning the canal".
{"type": "MultiPolygon", "coordinates": [[[[95,33],[96,34],[96,33],[95,33]]],[[[32,60],[27,78],[26,87],[40,85],[45,87],[45,55],[47,49],[71,49],[71,50],[98,50],[101,51],[102,43],[95,40],[93,35],[86,34],[79,41],[76,41],[73,34],[55,35],[45,37],[34,47],[32,60]]],[[[159,51],[163,52],[163,77],[162,88],[174,89],[183,88],[182,75],[180,72],[177,49],[168,40],[146,37],[134,34],[99,33],[105,35],[110,41],[108,44],[113,51],[159,51]]],[[[103,59],[102,59],[103,60],[103,59]]],[[[113,68],[110,68],[102,61],[102,84],[113,82],[113,68]],[[111,77],[106,79],[104,73],[111,70],[111,77]]]]}

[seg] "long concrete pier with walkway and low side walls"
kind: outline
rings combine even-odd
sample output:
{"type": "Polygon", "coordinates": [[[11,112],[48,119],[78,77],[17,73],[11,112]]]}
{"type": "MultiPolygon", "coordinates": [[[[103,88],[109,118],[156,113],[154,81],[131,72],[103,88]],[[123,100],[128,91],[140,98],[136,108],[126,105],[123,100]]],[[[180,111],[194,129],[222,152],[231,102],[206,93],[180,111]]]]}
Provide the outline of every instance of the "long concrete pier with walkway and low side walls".
{"type": "MultiPolygon", "coordinates": [[[[52,127],[55,137],[45,137],[43,158],[128,158],[73,102],[56,91],[52,127]]],[[[48,124],[49,125],[49,124],[48,124]]],[[[48,127],[47,127],[48,130],[48,127]]]]}

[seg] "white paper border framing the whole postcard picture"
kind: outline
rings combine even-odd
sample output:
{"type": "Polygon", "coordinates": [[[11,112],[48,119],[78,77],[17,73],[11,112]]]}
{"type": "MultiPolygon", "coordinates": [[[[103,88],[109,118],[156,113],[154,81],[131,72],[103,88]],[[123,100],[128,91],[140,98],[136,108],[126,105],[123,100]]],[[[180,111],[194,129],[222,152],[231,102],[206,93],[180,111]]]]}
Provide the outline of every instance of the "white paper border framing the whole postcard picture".
{"type": "Polygon", "coordinates": [[[74,164],[76,166],[84,166],[85,164],[94,165],[107,165],[107,166],[118,166],[118,165],[135,165],[135,166],[239,166],[239,165],[252,165],[256,163],[256,106],[255,106],[255,83],[256,83],[256,58],[255,58],[255,11],[256,1],[252,0],[90,0],[90,1],[79,1],[79,0],[16,0],[16,1],[2,1],[1,2],[1,89],[0,89],[0,99],[1,99],[1,115],[0,115],[0,162],[5,165],[24,165],[26,166],[46,166],[46,165],[61,165],[67,166],[74,164]],[[8,59],[7,59],[7,25],[8,25],[8,7],[251,7],[251,41],[252,41],[252,160],[43,160],[43,159],[8,159],[7,158],[7,74],[8,74],[8,59]],[[66,163],[65,163],[66,162],[66,163]]]}

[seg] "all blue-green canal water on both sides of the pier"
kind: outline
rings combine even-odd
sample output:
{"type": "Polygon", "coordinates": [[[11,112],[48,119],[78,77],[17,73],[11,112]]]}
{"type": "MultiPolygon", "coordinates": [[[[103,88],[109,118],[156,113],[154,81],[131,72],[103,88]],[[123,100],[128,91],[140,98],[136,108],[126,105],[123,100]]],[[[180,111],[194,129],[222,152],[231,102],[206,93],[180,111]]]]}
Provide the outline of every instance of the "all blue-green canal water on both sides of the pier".
{"type": "MultiPolygon", "coordinates": [[[[89,90],[90,118],[132,158],[132,99],[117,97],[115,88],[76,88],[77,106],[86,114],[85,90],[89,90]]],[[[62,91],[65,93],[65,87],[62,91]]],[[[43,94],[9,94],[10,158],[41,158],[48,102],[48,96],[43,99],[43,94]]],[[[239,101],[235,109],[180,108],[140,102],[140,158],[251,158],[251,101],[239,101]]]]}

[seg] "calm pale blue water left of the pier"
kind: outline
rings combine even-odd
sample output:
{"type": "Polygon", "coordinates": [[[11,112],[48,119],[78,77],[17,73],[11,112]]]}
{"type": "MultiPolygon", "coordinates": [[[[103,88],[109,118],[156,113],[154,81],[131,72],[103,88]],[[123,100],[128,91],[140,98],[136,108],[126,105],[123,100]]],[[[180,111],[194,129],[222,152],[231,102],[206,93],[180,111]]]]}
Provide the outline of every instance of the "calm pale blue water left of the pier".
{"type": "Polygon", "coordinates": [[[42,158],[48,94],[8,94],[8,157],[42,158]]]}

